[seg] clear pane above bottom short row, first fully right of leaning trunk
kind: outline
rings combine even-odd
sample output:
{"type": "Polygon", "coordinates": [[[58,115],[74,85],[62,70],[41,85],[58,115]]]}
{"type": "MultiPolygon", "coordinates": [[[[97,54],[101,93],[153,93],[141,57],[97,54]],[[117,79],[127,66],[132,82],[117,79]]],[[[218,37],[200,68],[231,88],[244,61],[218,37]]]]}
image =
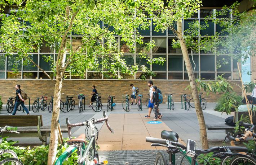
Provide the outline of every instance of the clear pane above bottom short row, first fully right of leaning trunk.
{"type": "Polygon", "coordinates": [[[215,71],[215,57],[214,55],[201,55],[200,68],[201,71],[215,71]]]}

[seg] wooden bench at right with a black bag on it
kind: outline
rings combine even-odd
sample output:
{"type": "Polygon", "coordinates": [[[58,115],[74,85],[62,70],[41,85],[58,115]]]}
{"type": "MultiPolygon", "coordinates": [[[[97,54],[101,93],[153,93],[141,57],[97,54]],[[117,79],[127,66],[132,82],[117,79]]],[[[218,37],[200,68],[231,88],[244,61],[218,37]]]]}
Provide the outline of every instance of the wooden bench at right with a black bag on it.
{"type": "MultiPolygon", "coordinates": [[[[247,115],[249,116],[248,112],[234,112],[234,119],[233,122],[236,123],[240,120],[241,116],[246,117],[247,115]]],[[[256,124],[256,112],[252,112],[252,122],[256,124]]],[[[231,135],[237,135],[238,133],[243,133],[243,132],[236,132],[235,133],[235,126],[229,126],[228,124],[225,123],[225,119],[223,119],[223,122],[221,123],[206,123],[206,128],[208,130],[220,130],[220,129],[225,129],[225,132],[228,133],[230,132],[231,135]]],[[[234,135],[234,136],[235,136],[234,135]]]]}

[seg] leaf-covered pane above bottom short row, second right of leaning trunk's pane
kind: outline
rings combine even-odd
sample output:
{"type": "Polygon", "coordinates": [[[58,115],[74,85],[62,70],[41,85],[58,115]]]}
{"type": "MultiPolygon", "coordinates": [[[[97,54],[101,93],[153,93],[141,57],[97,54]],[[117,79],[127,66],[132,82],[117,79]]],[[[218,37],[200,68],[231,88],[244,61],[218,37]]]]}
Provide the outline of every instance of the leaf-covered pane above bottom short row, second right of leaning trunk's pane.
{"type": "Polygon", "coordinates": [[[229,56],[217,56],[217,65],[220,66],[217,71],[231,71],[230,58],[229,56]]]}

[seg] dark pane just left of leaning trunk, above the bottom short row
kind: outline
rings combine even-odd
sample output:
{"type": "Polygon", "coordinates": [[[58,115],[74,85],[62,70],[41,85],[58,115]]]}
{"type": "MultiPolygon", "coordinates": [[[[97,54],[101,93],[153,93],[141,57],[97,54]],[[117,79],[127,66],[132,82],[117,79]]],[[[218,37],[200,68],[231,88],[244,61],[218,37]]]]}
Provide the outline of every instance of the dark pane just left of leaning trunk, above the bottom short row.
{"type": "Polygon", "coordinates": [[[182,55],[168,55],[168,71],[182,71],[182,55]]]}

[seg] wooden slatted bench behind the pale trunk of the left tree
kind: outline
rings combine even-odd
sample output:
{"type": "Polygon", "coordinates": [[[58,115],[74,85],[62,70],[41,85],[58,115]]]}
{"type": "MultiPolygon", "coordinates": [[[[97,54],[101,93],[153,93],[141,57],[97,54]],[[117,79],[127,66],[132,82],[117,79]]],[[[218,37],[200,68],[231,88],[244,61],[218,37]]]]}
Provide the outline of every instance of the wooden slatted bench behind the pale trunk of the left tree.
{"type": "MultiPolygon", "coordinates": [[[[50,137],[50,126],[43,126],[42,115],[0,115],[0,127],[18,127],[18,133],[4,132],[9,137],[39,137],[43,145],[50,137]]],[[[61,132],[67,132],[67,126],[61,126],[61,132]]]]}

